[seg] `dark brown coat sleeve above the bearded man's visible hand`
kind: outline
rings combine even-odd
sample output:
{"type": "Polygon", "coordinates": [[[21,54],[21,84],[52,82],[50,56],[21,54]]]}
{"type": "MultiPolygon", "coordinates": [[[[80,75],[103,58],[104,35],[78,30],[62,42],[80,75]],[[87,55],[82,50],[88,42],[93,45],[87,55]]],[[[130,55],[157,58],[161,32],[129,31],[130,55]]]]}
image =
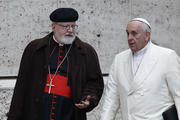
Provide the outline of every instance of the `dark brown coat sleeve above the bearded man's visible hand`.
{"type": "Polygon", "coordinates": [[[86,108],[86,112],[89,112],[98,105],[104,89],[104,82],[96,51],[90,47],[87,55],[87,83],[83,90],[83,98],[91,96],[90,105],[86,108]]]}

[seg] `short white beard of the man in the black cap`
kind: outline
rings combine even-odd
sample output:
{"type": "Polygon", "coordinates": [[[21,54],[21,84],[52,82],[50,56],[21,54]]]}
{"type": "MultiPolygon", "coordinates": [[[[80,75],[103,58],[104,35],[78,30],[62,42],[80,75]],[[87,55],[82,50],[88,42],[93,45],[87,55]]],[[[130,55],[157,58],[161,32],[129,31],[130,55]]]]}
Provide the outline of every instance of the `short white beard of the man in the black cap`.
{"type": "Polygon", "coordinates": [[[72,34],[72,33],[66,33],[64,36],[59,36],[59,33],[58,32],[55,32],[54,33],[55,36],[56,36],[56,39],[58,42],[60,42],[61,44],[72,44],[74,39],[75,39],[75,35],[72,34]],[[70,35],[70,36],[68,36],[70,35]]]}

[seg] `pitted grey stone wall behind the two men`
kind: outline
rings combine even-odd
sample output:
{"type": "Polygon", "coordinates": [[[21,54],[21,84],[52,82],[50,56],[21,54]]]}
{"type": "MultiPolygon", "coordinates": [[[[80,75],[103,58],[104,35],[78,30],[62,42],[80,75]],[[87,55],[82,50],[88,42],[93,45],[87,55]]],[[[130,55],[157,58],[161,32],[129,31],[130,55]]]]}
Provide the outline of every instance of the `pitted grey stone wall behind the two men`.
{"type": "MultiPolygon", "coordinates": [[[[25,46],[51,31],[49,14],[58,7],[77,9],[78,36],[95,47],[103,73],[108,73],[115,54],[128,48],[125,29],[134,17],[150,22],[152,41],[180,55],[179,6],[179,0],[0,0],[0,76],[17,75],[25,46]]],[[[0,89],[1,120],[12,90],[0,89]]],[[[98,108],[89,116],[98,120],[98,108]]]]}

